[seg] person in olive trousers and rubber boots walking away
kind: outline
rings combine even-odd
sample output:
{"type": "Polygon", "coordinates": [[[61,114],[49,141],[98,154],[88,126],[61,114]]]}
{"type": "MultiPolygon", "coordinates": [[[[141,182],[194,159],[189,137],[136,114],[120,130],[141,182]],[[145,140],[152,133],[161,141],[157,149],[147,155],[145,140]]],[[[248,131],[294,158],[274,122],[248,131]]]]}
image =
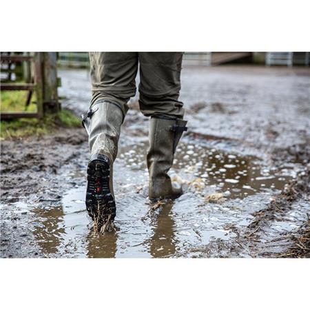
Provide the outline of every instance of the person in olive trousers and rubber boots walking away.
{"type": "Polygon", "coordinates": [[[83,116],[89,136],[86,209],[97,231],[109,231],[116,216],[113,163],[128,101],[136,93],[140,70],[139,106],[150,117],[147,168],[149,199],[177,198],[168,175],[187,121],[180,93],[182,52],[90,52],[92,101],[83,116]]]}

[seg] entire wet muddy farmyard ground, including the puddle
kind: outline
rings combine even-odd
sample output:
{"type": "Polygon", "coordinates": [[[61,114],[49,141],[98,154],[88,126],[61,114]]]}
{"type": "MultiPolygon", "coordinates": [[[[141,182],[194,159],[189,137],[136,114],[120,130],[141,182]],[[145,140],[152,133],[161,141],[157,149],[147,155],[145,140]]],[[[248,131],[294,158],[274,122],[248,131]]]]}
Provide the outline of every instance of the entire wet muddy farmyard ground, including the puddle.
{"type": "MultiPolygon", "coordinates": [[[[63,107],[87,110],[87,70],[59,75],[63,107]]],[[[1,141],[1,257],[309,257],[310,70],[186,67],[182,82],[189,131],[171,175],[185,194],[147,200],[136,95],[114,166],[116,231],[103,236],[85,212],[83,129],[1,141]]]]}

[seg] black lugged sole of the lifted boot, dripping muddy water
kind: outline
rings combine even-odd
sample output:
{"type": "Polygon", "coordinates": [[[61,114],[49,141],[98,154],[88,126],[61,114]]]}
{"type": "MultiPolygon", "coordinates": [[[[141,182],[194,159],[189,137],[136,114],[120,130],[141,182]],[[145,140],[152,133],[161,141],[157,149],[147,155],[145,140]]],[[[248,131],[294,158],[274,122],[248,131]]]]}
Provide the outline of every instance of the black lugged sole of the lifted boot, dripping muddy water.
{"type": "Polygon", "coordinates": [[[110,159],[94,154],[87,166],[86,209],[97,231],[113,223],[116,216],[115,200],[110,189],[110,159]]]}

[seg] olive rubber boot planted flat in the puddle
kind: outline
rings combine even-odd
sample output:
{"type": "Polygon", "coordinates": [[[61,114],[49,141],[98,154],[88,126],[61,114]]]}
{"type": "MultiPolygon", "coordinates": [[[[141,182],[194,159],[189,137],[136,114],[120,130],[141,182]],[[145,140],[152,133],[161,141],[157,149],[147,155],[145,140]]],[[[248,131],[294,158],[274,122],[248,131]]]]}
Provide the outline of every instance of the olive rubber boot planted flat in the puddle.
{"type": "Polygon", "coordinates": [[[176,146],[187,121],[178,118],[152,117],[149,123],[149,199],[177,198],[183,194],[182,187],[175,187],[168,175],[174,161],[176,146]]]}

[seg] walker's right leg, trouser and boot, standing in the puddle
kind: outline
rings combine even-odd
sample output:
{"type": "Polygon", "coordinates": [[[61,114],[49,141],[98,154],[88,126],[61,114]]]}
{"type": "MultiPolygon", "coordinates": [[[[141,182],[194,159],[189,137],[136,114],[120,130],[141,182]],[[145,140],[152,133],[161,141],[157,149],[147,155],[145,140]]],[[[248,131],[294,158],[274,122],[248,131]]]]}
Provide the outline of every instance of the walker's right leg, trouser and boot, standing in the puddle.
{"type": "Polygon", "coordinates": [[[180,93],[181,52],[141,52],[140,110],[150,116],[149,149],[149,198],[176,198],[181,188],[172,185],[168,175],[174,161],[176,146],[187,121],[183,121],[183,103],[180,93]]]}

